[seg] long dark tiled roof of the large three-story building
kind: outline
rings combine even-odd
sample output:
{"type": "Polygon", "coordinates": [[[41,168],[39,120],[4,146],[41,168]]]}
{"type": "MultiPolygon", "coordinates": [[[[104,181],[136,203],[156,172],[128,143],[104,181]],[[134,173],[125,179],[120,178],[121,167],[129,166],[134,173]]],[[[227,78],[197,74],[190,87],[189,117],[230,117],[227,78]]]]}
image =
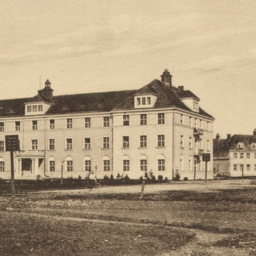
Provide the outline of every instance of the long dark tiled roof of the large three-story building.
{"type": "MultiPolygon", "coordinates": [[[[46,114],[109,112],[113,109],[134,109],[134,96],[147,93],[154,93],[157,96],[154,108],[167,108],[172,106],[193,112],[180,100],[179,90],[176,87],[171,86],[168,88],[163,82],[154,80],[139,90],[69,94],[53,96],[51,100],[40,94],[32,98],[0,100],[0,108],[1,104],[3,106],[3,108],[0,109],[0,116],[24,115],[24,103],[39,101],[45,101],[52,104],[46,114]],[[8,113],[10,109],[14,109],[15,113],[8,113]]],[[[197,112],[193,113],[197,114],[197,112]]],[[[201,108],[199,109],[199,114],[213,118],[212,115],[204,112],[201,108]]]]}

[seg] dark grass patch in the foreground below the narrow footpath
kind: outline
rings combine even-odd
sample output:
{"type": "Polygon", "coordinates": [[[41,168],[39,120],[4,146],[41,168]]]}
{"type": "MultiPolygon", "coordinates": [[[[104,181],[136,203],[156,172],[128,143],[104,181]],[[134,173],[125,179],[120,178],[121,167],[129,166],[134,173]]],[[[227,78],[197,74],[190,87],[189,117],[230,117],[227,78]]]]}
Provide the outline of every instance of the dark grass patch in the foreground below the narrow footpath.
{"type": "Polygon", "coordinates": [[[193,240],[189,231],[1,214],[2,255],[156,255],[193,240]],[[141,237],[140,237],[141,236],[141,237]]]}

